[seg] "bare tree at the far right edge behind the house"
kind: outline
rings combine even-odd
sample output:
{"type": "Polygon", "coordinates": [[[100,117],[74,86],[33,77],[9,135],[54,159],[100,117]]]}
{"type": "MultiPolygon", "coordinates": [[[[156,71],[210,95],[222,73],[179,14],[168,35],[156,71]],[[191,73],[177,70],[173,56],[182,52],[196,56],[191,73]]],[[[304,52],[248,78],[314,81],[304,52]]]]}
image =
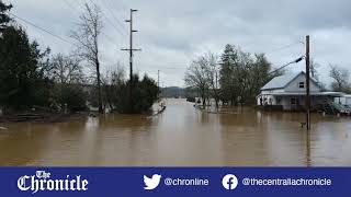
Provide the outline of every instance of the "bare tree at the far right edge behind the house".
{"type": "Polygon", "coordinates": [[[333,91],[350,91],[350,73],[348,69],[340,68],[336,65],[330,65],[329,76],[333,79],[333,82],[331,83],[331,88],[333,91]]]}

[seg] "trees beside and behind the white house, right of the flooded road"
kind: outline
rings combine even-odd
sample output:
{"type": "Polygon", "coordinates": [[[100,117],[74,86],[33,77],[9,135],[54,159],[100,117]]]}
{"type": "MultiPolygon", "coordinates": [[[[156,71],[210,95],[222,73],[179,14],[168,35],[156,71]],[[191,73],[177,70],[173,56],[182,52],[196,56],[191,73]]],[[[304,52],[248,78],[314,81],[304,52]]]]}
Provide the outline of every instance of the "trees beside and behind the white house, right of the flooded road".
{"type": "MultiPolygon", "coordinates": [[[[322,90],[326,85],[318,78],[319,65],[310,60],[310,74],[322,90]]],[[[330,65],[331,91],[351,93],[348,69],[330,65]]],[[[264,54],[242,51],[234,45],[226,45],[220,56],[208,51],[196,57],[185,72],[185,84],[197,91],[202,106],[213,99],[218,108],[219,101],[228,105],[253,105],[260,89],[273,78],[284,74],[285,69],[273,71],[264,54]]],[[[197,101],[199,102],[199,101],[197,101]]]]}

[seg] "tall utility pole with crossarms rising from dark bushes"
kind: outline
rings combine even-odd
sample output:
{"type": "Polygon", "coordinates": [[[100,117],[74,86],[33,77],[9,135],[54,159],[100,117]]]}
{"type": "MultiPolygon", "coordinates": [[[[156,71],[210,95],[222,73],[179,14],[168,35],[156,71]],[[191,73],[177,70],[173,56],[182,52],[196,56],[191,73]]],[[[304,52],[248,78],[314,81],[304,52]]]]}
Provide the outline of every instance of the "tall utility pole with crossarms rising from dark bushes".
{"type": "Polygon", "coordinates": [[[132,112],[133,109],[133,51],[137,51],[137,50],[141,50],[141,49],[135,49],[133,48],[133,33],[138,32],[136,30],[133,30],[133,13],[136,12],[137,10],[133,10],[131,9],[131,19],[129,20],[125,20],[125,22],[129,23],[131,27],[129,27],[129,48],[128,49],[122,49],[122,50],[127,50],[129,51],[129,109],[132,112]]]}

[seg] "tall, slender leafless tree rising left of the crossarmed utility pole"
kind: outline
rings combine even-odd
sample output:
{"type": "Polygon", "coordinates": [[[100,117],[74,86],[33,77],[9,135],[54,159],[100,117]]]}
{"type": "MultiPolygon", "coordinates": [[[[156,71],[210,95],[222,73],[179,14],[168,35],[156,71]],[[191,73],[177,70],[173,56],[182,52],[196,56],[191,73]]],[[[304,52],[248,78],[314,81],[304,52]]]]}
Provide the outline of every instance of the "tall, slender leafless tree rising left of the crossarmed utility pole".
{"type": "Polygon", "coordinates": [[[103,24],[101,9],[97,4],[84,4],[86,11],[80,16],[78,30],[71,33],[71,37],[77,42],[79,56],[88,61],[95,69],[98,81],[98,105],[99,113],[102,114],[100,60],[99,60],[99,35],[103,24]]]}

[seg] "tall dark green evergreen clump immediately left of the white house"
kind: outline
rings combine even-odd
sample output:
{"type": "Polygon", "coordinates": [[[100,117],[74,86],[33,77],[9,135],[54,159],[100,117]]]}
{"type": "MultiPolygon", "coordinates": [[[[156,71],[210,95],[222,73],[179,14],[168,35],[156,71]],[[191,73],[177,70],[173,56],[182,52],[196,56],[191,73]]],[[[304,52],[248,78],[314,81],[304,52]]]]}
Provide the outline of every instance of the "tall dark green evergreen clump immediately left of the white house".
{"type": "Polygon", "coordinates": [[[222,55],[220,100],[231,105],[254,103],[260,89],[272,78],[282,74],[271,74],[270,70],[271,63],[264,54],[252,56],[233,45],[226,45],[222,55]]]}

